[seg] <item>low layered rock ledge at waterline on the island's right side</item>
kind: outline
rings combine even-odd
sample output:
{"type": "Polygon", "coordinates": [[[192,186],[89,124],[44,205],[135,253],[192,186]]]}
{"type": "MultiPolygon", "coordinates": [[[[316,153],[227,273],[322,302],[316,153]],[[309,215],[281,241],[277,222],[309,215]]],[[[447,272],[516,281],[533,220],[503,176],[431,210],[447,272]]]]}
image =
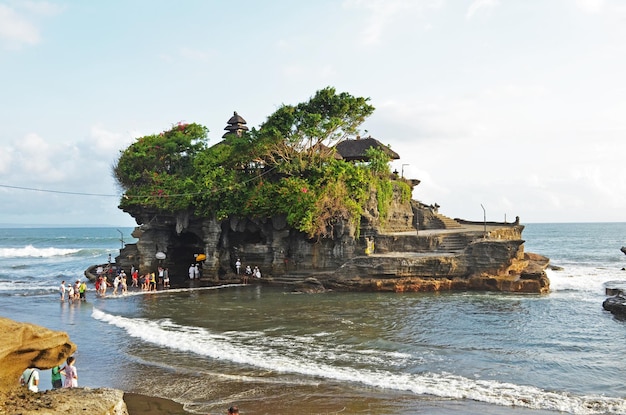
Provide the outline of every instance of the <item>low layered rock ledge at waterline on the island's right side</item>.
{"type": "Polygon", "coordinates": [[[352,291],[502,291],[546,293],[549,260],[518,256],[520,241],[478,241],[460,253],[390,253],[354,258],[325,284],[352,291]]]}

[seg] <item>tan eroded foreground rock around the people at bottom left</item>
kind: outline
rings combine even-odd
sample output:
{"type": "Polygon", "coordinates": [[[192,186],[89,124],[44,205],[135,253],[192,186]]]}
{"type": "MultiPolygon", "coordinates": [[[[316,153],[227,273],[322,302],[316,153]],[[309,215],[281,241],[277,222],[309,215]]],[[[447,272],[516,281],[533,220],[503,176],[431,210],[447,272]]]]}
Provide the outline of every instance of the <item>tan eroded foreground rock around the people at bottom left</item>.
{"type": "Polygon", "coordinates": [[[19,386],[24,369],[51,369],[76,351],[67,333],[0,317],[0,414],[127,415],[124,393],[72,388],[33,393],[19,386]]]}

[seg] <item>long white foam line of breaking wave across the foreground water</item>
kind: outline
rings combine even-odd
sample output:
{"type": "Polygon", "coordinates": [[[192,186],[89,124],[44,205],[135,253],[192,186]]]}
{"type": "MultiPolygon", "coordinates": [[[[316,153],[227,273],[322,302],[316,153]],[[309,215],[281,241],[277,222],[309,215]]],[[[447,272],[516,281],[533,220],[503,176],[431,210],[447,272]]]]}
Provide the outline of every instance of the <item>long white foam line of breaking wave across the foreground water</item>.
{"type": "MultiPolygon", "coordinates": [[[[603,396],[575,396],[545,391],[533,386],[516,385],[493,380],[476,380],[448,373],[403,373],[379,369],[355,369],[342,366],[341,361],[356,360],[365,367],[376,360],[404,359],[384,351],[352,351],[351,345],[324,348],[323,342],[311,343],[298,336],[266,337],[254,331],[216,334],[198,327],[186,327],[171,320],[150,321],[107,314],[93,310],[92,317],[124,329],[130,336],[158,346],[190,352],[211,359],[257,367],[265,370],[295,373],[342,382],[358,382],[372,387],[410,391],[447,399],[472,399],[502,406],[518,406],[537,410],[562,411],[575,415],[623,414],[626,400],[603,396]],[[245,339],[246,343],[241,343],[245,339]],[[252,341],[250,341],[252,340],[252,341]],[[254,347],[250,345],[254,344],[254,347]],[[378,353],[378,356],[376,354],[378,353]],[[328,362],[335,362],[334,365],[328,362]]],[[[388,365],[392,367],[395,365],[388,365]]]]}

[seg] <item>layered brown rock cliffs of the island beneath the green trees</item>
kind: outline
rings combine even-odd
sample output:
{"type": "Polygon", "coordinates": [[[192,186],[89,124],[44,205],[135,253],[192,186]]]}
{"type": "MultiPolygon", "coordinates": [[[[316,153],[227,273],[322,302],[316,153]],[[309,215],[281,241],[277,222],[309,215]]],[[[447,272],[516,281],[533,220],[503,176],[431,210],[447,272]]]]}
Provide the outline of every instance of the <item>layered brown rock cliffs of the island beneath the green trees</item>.
{"type": "MultiPolygon", "coordinates": [[[[447,218],[438,206],[403,201],[400,189],[386,218],[376,194],[363,210],[360,233],[338,221],[332,238],[309,239],[284,216],[230,217],[218,221],[189,212],[128,211],[140,226],[116,259],[128,269],[169,268],[173,285],[184,285],[199,254],[205,282],[232,281],[235,262],[258,266],[263,281],[302,282],[315,277],[324,288],[367,291],[491,290],[545,293],[549,260],[524,253],[515,223],[472,223],[447,218]],[[358,237],[355,235],[358,234],[358,237]],[[156,253],[166,254],[157,259],[156,253]]],[[[303,292],[320,291],[317,288],[303,292]]]]}

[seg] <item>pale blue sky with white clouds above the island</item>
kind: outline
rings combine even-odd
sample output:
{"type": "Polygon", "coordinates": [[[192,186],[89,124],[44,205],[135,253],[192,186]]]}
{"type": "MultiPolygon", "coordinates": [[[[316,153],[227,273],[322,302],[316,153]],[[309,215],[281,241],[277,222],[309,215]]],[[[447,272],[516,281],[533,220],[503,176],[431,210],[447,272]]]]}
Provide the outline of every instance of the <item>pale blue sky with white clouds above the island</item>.
{"type": "Polygon", "coordinates": [[[327,86],[446,216],[623,222],[624,39],[620,0],[0,0],[0,224],[135,226],[138,137],[327,86]]]}

